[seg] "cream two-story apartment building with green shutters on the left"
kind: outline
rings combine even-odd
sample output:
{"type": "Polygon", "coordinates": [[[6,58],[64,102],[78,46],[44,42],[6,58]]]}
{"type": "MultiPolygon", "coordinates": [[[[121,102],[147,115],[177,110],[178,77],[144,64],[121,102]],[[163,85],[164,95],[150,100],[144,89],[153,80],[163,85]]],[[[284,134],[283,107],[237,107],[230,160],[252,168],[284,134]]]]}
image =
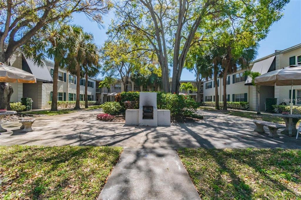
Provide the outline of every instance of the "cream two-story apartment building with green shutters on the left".
{"type": "MultiPolygon", "coordinates": [[[[36,83],[10,83],[14,93],[11,102],[20,102],[22,97],[32,98],[33,109],[49,108],[48,101],[52,99],[52,81],[54,62],[45,61],[44,67],[35,65],[30,59],[26,59],[21,52],[16,52],[9,63],[11,66],[23,69],[35,75],[36,83]]],[[[80,99],[84,100],[85,84],[88,84],[88,100],[96,101],[96,80],[88,78],[80,81],[80,99]]],[[[76,77],[66,69],[59,69],[58,73],[58,101],[75,101],[76,98],[76,77]]]]}

